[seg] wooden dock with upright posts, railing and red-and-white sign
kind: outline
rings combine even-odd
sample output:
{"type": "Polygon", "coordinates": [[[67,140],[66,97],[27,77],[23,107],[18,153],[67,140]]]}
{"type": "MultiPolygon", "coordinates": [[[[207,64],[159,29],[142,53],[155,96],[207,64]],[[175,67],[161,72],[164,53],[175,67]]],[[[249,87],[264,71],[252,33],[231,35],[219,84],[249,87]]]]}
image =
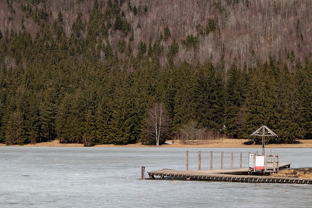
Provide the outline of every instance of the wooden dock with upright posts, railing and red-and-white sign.
{"type": "MultiPolygon", "coordinates": [[[[210,152],[210,170],[201,170],[201,151],[198,151],[198,170],[188,170],[188,151],[186,151],[186,170],[163,169],[147,172],[150,179],[177,179],[177,180],[202,180],[224,181],[242,183],[287,183],[287,184],[312,184],[311,178],[286,178],[272,177],[272,173],[290,168],[290,163],[280,163],[279,156],[272,154],[258,155],[249,152],[249,167],[242,168],[242,153],[240,152],[239,169],[233,169],[233,152],[231,152],[231,169],[223,169],[223,152],[221,152],[221,168],[213,170],[213,152],[210,152]]],[[[142,167],[141,178],[145,178],[145,167],[142,167]]]]}

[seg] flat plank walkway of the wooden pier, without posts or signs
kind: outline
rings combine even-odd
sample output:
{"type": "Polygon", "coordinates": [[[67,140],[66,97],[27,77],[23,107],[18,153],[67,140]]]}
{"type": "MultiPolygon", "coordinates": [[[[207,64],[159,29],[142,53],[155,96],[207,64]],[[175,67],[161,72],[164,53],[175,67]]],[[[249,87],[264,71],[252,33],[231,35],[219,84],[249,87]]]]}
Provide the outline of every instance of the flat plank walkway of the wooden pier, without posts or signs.
{"type": "MultiPolygon", "coordinates": [[[[279,169],[289,167],[290,164],[280,164],[279,169]]],[[[241,182],[241,183],[288,183],[288,184],[312,184],[310,178],[286,178],[251,175],[248,168],[236,170],[171,170],[163,169],[147,172],[150,179],[159,176],[160,179],[180,180],[203,180],[219,182],[241,182]]]]}

